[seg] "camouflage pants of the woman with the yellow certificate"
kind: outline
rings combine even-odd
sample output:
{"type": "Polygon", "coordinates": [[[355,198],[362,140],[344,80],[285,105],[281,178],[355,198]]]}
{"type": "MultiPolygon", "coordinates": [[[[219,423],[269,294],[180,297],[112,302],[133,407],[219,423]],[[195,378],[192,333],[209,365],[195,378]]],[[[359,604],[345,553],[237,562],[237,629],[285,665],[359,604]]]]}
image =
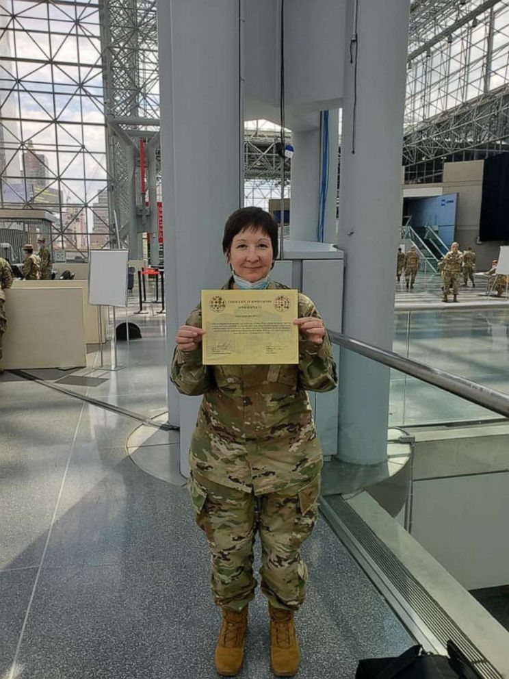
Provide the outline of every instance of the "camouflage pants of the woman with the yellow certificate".
{"type": "Polygon", "coordinates": [[[320,477],[306,487],[263,496],[200,476],[187,482],[196,523],[211,552],[211,587],[218,606],[240,611],[254,598],[256,534],[261,541],[261,590],[277,608],[296,610],[306,595],[307,567],[300,546],[317,520],[320,477]]]}

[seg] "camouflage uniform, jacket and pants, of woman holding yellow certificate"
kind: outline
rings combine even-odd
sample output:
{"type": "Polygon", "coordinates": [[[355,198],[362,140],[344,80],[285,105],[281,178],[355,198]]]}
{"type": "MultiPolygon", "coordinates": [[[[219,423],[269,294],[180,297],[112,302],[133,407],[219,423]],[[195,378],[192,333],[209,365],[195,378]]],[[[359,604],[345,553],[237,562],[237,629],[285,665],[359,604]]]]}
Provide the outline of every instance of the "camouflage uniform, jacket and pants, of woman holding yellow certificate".
{"type": "MultiPolygon", "coordinates": [[[[280,288],[285,286],[268,285],[280,288]]],[[[298,315],[319,318],[303,294],[298,315]]],[[[186,324],[201,327],[199,306],[186,324]]],[[[337,376],[327,336],[320,345],[300,340],[299,353],[298,365],[284,366],[203,366],[201,348],[174,353],[172,381],[179,392],[204,394],[188,488],[211,550],[216,604],[236,611],[254,597],[257,532],[267,599],[287,609],[304,600],[307,568],[300,546],[315,525],[322,469],[306,389],[327,392],[337,376]]]]}

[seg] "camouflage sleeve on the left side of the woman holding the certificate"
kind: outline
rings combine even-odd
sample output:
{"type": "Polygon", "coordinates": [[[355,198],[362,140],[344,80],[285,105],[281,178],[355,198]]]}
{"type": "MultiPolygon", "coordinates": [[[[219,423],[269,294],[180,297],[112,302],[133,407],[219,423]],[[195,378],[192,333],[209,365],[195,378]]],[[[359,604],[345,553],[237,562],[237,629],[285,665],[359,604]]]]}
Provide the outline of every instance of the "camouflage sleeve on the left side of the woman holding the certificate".
{"type": "MultiPolygon", "coordinates": [[[[186,325],[201,328],[202,318],[199,307],[187,318],[186,325]]],[[[181,394],[200,396],[212,387],[211,373],[202,363],[202,348],[194,351],[180,351],[175,347],[172,360],[171,381],[181,394]]]]}

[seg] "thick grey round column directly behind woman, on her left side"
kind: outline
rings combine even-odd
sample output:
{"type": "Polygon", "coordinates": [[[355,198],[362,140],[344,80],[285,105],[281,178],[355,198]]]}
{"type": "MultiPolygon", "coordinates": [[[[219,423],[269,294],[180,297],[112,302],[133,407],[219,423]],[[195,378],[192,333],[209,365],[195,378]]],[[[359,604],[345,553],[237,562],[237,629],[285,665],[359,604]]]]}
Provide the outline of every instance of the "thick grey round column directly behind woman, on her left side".
{"type": "MultiPolygon", "coordinates": [[[[228,276],[224,222],[239,207],[239,9],[231,0],[158,0],[168,363],[200,290],[228,276]]],[[[169,383],[169,381],[168,381],[169,383]]],[[[199,397],[169,383],[181,472],[199,397]]]]}

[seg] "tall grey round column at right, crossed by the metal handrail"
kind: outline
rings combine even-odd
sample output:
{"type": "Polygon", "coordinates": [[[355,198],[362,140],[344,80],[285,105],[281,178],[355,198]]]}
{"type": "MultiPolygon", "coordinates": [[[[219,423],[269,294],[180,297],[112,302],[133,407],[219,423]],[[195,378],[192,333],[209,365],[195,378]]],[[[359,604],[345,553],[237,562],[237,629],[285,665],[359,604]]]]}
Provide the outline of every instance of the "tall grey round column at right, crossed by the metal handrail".
{"type": "MultiPolygon", "coordinates": [[[[348,5],[347,49],[356,3],[348,5]]],[[[343,332],[391,349],[409,0],[357,7],[357,63],[345,62],[341,144],[343,332]]],[[[339,368],[339,457],[379,463],[387,453],[389,369],[343,350],[339,368]]]]}

